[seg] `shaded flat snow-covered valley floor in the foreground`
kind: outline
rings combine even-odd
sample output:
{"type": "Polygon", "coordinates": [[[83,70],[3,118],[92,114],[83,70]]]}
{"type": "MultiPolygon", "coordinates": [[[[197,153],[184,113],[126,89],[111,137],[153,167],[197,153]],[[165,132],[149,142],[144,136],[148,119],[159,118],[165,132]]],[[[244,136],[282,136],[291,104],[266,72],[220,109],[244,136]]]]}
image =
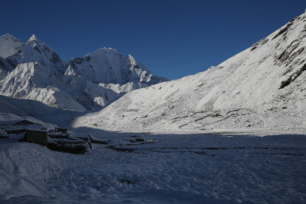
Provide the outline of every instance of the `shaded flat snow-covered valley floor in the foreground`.
{"type": "Polygon", "coordinates": [[[72,155],[1,139],[0,202],[305,203],[306,135],[77,132],[110,141],[72,155]]]}

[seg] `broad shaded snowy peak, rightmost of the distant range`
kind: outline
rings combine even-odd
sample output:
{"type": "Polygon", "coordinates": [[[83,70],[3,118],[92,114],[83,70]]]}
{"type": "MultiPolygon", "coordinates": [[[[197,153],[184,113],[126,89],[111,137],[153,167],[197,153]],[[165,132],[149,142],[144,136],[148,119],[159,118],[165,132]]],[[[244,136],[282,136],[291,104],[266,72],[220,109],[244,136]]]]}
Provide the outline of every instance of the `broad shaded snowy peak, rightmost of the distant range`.
{"type": "Polygon", "coordinates": [[[67,75],[80,75],[96,84],[146,83],[147,85],[168,81],[157,77],[131,56],[123,56],[114,48],[100,48],[84,57],[67,62],[67,75]]]}

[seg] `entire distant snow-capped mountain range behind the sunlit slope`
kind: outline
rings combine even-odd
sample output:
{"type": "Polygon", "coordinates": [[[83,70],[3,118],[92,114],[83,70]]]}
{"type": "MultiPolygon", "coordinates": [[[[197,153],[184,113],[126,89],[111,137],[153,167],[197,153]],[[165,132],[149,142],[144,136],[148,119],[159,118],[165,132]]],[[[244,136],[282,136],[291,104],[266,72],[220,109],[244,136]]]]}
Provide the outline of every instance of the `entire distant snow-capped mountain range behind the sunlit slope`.
{"type": "Polygon", "coordinates": [[[0,37],[1,95],[84,111],[107,105],[120,92],[164,81],[112,48],[65,62],[35,35],[26,44],[10,34],[0,37]]]}

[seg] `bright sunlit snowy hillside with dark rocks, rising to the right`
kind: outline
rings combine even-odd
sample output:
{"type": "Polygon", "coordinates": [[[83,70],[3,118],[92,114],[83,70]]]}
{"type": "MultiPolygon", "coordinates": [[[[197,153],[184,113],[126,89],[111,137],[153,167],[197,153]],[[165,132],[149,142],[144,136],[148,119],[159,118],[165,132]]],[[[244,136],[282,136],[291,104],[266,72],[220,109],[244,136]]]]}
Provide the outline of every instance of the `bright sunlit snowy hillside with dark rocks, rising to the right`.
{"type": "Polygon", "coordinates": [[[305,36],[302,14],[218,66],[126,93],[73,126],[155,132],[306,130],[305,36]]]}

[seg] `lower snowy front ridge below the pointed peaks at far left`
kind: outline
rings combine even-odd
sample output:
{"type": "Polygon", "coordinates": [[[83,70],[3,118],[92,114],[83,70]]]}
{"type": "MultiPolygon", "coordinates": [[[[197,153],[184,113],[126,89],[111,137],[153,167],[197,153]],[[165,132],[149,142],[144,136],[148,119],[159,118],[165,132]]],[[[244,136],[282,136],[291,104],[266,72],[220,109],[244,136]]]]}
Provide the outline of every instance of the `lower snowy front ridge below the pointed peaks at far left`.
{"type": "Polygon", "coordinates": [[[105,106],[118,96],[114,91],[81,77],[60,76],[38,62],[18,64],[0,83],[2,95],[78,111],[105,106]]]}

